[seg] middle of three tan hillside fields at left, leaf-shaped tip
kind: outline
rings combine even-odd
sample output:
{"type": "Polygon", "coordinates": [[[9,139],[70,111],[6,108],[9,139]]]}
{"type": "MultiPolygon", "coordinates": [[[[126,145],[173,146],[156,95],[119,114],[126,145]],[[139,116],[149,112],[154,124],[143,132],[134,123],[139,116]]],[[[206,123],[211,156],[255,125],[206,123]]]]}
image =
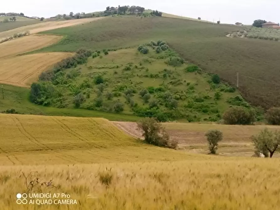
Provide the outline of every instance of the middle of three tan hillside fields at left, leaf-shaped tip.
{"type": "Polygon", "coordinates": [[[33,51],[33,50],[38,50],[40,48],[58,42],[61,38],[62,36],[29,35],[29,36],[4,42],[0,44],[0,59],[8,56],[14,56],[21,53],[33,51]]]}

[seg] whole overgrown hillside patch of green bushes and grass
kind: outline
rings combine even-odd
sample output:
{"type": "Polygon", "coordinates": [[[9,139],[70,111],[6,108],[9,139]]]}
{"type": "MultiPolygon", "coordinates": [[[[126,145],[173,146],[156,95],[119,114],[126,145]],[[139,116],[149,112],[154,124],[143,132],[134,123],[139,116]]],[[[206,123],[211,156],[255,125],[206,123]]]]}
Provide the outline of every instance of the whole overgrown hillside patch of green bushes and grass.
{"type": "Polygon", "coordinates": [[[230,110],[253,110],[250,104],[236,95],[235,88],[221,83],[218,75],[203,73],[183,60],[165,41],[128,50],[133,51],[125,57],[106,49],[78,50],[40,75],[31,86],[30,100],[43,106],[134,114],[161,122],[216,122],[222,118],[229,124],[254,122],[244,120],[243,115],[241,121],[233,122],[231,118],[236,116],[230,110]],[[112,60],[107,59],[111,54],[112,60]],[[135,59],[125,63],[130,56],[135,59]],[[222,107],[231,106],[223,116],[222,107]]]}

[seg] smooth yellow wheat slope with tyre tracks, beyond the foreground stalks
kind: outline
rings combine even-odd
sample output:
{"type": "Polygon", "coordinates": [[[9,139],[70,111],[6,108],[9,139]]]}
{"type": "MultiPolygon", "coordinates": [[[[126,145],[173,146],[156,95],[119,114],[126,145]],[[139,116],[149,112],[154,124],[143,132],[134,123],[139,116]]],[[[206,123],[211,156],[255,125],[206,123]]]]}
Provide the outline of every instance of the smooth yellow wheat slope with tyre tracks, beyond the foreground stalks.
{"type": "Polygon", "coordinates": [[[102,118],[0,114],[0,129],[1,165],[180,160],[188,157],[184,152],[144,144],[102,118]],[[165,157],[161,156],[162,153],[165,157]]]}

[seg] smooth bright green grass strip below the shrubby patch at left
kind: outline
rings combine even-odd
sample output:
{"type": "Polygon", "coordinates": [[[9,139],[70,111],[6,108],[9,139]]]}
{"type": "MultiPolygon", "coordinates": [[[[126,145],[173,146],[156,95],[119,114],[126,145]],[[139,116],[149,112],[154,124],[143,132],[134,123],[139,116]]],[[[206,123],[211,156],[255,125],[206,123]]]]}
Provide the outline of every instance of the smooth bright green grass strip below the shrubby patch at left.
{"type": "Polygon", "coordinates": [[[74,116],[74,117],[102,117],[109,120],[117,121],[137,121],[136,116],[103,113],[97,111],[89,111],[84,109],[59,109],[53,107],[43,107],[29,102],[29,89],[24,87],[15,87],[11,85],[3,85],[4,99],[2,98],[2,89],[0,89],[0,111],[14,108],[19,113],[38,114],[38,115],[54,115],[54,116],[74,116]]]}

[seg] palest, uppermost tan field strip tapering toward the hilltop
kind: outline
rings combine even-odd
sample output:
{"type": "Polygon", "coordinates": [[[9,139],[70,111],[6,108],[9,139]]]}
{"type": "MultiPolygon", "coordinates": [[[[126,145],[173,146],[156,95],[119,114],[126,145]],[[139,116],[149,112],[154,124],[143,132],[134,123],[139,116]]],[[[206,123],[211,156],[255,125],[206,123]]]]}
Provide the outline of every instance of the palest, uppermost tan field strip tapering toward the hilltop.
{"type": "Polygon", "coordinates": [[[22,33],[24,31],[30,31],[30,34],[36,34],[41,31],[48,31],[48,30],[52,30],[52,29],[58,29],[58,28],[64,28],[64,27],[84,24],[84,23],[95,21],[98,19],[100,19],[100,18],[83,18],[83,19],[65,20],[65,21],[50,21],[50,22],[23,26],[20,28],[1,32],[0,39],[10,37],[13,34],[22,33]]]}

